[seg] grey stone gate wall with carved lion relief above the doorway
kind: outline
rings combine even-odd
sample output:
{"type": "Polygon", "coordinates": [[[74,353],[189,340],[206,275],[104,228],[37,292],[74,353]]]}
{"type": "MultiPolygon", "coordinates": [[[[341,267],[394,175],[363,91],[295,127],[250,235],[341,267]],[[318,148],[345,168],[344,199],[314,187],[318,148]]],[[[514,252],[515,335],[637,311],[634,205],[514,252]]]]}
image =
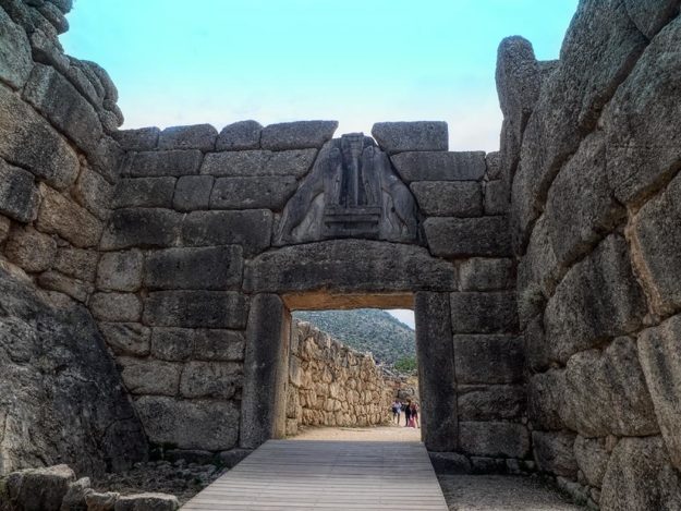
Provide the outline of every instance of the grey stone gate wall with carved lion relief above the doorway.
{"type": "Polygon", "coordinates": [[[151,442],[284,431],[290,311],[413,308],[423,437],[530,455],[508,183],[447,124],[253,121],[123,131],[93,313],[151,442]]]}

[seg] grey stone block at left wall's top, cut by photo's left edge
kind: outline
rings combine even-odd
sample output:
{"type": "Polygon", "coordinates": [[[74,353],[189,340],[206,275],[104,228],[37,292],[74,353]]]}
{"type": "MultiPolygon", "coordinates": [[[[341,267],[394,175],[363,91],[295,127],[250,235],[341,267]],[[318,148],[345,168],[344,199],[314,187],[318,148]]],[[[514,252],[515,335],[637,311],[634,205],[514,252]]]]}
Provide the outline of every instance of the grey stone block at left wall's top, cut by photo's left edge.
{"type": "Polygon", "coordinates": [[[12,88],[22,88],[32,68],[26,33],[0,9],[0,80],[12,88]]]}

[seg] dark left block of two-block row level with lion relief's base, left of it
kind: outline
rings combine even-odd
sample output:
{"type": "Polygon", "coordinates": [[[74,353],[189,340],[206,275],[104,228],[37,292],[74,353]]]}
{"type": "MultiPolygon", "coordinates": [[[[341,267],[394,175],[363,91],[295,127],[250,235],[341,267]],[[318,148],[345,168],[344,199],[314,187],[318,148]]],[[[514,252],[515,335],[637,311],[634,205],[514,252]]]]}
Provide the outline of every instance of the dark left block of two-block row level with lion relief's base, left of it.
{"type": "Polygon", "coordinates": [[[169,209],[119,209],[101,236],[101,250],[165,247],[180,238],[182,215],[169,209]]]}

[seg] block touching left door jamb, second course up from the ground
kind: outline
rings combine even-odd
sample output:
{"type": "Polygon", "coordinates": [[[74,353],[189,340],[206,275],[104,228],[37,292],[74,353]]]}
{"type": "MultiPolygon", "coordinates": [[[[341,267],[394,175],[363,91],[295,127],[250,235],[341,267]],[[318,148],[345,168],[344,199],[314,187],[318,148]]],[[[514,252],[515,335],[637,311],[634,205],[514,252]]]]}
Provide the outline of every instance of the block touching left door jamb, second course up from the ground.
{"type": "Polygon", "coordinates": [[[238,362],[189,362],[182,372],[180,394],[192,399],[232,399],[243,385],[242,367],[238,362]]]}

